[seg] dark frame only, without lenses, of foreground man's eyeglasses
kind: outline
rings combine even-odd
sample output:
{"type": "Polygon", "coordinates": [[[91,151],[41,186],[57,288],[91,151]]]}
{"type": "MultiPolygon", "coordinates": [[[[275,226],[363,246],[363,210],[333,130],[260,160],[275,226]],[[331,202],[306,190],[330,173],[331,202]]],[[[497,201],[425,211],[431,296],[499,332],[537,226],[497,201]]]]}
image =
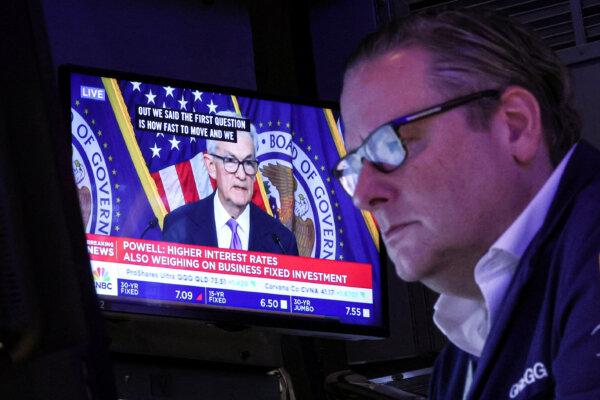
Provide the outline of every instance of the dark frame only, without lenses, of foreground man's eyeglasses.
{"type": "MultiPolygon", "coordinates": [[[[420,111],[416,111],[407,115],[403,115],[401,117],[398,118],[394,118],[391,121],[388,121],[384,124],[379,125],[377,128],[373,129],[373,131],[371,131],[371,133],[369,133],[369,135],[367,136],[367,138],[365,140],[363,140],[363,142],[360,144],[360,146],[358,146],[356,149],[352,150],[350,153],[346,154],[344,157],[340,158],[338,162],[335,163],[333,170],[331,171],[332,175],[338,179],[338,181],[340,181],[340,184],[342,185],[342,187],[344,188],[344,191],[350,195],[353,196],[354,192],[356,191],[356,189],[354,189],[352,192],[350,192],[350,189],[344,184],[344,182],[342,181],[342,178],[344,177],[344,175],[342,174],[342,172],[344,170],[338,169],[338,167],[340,166],[340,164],[342,164],[343,162],[346,162],[348,165],[351,165],[350,162],[348,162],[348,159],[351,158],[352,156],[354,156],[357,153],[362,153],[362,157],[360,159],[360,169],[356,172],[356,176],[360,176],[360,173],[362,171],[362,164],[364,162],[365,159],[367,159],[365,157],[366,155],[366,151],[365,146],[367,145],[367,143],[369,143],[369,141],[371,140],[371,138],[378,133],[382,128],[390,126],[392,128],[392,130],[395,132],[396,137],[398,138],[398,141],[400,142],[400,145],[402,146],[402,148],[404,149],[405,152],[405,156],[404,158],[398,163],[398,165],[393,166],[392,168],[389,169],[384,169],[382,168],[380,165],[378,165],[377,163],[373,163],[370,160],[367,159],[367,161],[369,161],[378,171],[383,172],[383,173],[390,173],[395,171],[396,169],[400,168],[400,166],[402,166],[404,164],[404,162],[406,161],[406,159],[408,158],[408,149],[406,148],[406,144],[404,143],[404,141],[402,140],[402,137],[400,136],[400,127],[407,125],[409,123],[412,122],[416,122],[425,118],[429,118],[432,117],[434,115],[437,114],[442,114],[444,112],[450,111],[456,107],[460,107],[463,106],[465,104],[471,103],[473,101],[476,100],[481,100],[483,98],[486,97],[493,97],[493,98],[498,98],[501,94],[501,90],[499,89],[487,89],[487,90],[482,90],[479,92],[475,92],[475,93],[471,93],[465,96],[460,96],[454,99],[450,99],[447,100],[443,103],[439,103],[436,104],[434,106],[431,107],[427,107],[423,110],[420,111]]],[[[348,170],[351,168],[346,168],[345,170],[348,170]]]]}

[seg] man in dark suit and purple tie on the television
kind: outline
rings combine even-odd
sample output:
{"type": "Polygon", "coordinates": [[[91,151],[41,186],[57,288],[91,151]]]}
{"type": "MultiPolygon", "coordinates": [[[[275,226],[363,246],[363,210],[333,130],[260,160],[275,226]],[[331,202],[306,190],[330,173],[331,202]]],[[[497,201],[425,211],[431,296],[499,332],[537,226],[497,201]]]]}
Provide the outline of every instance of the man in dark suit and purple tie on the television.
{"type": "Polygon", "coordinates": [[[237,132],[236,143],[207,140],[204,161],[217,190],[167,215],[163,240],[298,255],[292,232],[251,202],[258,172],[254,141],[254,132],[246,131],[237,132]]]}

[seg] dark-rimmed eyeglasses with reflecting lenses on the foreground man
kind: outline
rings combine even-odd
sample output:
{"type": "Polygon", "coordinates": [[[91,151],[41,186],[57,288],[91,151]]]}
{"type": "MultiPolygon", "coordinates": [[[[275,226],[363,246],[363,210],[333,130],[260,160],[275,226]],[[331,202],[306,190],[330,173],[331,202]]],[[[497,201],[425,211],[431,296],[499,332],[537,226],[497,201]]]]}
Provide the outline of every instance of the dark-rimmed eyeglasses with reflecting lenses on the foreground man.
{"type": "Polygon", "coordinates": [[[498,97],[499,94],[500,91],[498,90],[484,90],[457,97],[385,123],[371,132],[358,148],[338,161],[333,168],[333,175],[340,180],[344,190],[350,196],[353,196],[365,160],[381,172],[394,171],[404,163],[407,157],[407,148],[400,135],[400,127],[441,114],[475,100],[485,97],[498,97]]]}

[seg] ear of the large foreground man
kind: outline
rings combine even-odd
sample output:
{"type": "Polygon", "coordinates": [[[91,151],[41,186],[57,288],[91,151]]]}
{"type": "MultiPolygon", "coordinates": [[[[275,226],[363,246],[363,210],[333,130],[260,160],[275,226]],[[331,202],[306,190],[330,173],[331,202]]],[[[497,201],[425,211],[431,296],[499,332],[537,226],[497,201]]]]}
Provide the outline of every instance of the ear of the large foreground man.
{"type": "Polygon", "coordinates": [[[530,164],[544,146],[540,104],[529,90],[509,86],[500,97],[502,117],[508,127],[507,145],[520,165],[530,164]]]}

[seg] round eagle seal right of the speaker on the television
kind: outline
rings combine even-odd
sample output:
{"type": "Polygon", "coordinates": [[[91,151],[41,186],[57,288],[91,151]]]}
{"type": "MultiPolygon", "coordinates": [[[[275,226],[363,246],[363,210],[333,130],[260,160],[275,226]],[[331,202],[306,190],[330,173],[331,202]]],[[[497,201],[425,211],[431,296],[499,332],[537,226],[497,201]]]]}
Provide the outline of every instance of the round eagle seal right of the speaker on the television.
{"type": "Polygon", "coordinates": [[[334,212],[317,167],[290,133],[264,131],[257,142],[256,158],[271,209],[296,236],[300,255],[335,260],[334,212]]]}

